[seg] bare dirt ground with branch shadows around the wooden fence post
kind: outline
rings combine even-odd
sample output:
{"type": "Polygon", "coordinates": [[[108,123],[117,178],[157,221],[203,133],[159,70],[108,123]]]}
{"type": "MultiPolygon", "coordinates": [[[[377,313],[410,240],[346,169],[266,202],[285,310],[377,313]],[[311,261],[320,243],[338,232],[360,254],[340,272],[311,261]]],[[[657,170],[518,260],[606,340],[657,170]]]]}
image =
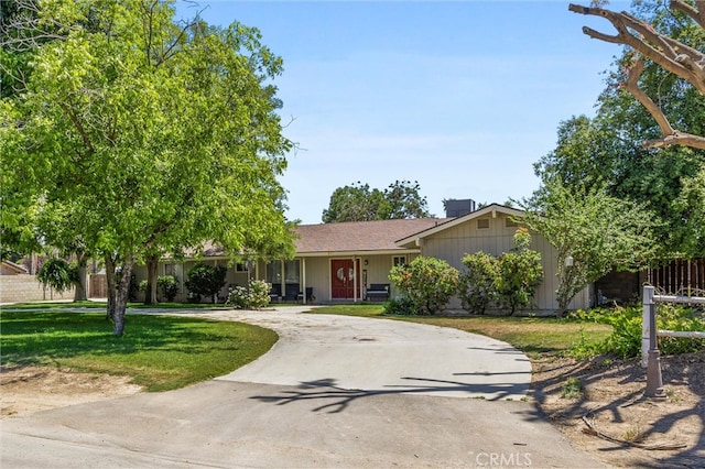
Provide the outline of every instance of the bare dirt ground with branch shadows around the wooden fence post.
{"type": "Polygon", "coordinates": [[[661,359],[663,400],[643,396],[646,369],[639,360],[545,358],[534,361],[533,368],[539,408],[576,447],[611,467],[703,467],[703,353],[661,359]],[[588,428],[584,417],[615,441],[584,433],[588,428]],[[641,449],[631,443],[668,449],[641,449]]]}

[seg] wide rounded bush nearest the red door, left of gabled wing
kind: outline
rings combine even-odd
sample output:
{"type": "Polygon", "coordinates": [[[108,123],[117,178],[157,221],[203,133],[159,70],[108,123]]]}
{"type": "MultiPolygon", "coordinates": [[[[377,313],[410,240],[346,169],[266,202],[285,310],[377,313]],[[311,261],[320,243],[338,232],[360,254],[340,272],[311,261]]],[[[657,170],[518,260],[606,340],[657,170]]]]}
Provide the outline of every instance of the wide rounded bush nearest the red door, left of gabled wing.
{"type": "Polygon", "coordinates": [[[447,262],[423,255],[411,264],[394,266],[389,280],[409,298],[419,314],[442,310],[458,288],[458,271],[447,262]]]}

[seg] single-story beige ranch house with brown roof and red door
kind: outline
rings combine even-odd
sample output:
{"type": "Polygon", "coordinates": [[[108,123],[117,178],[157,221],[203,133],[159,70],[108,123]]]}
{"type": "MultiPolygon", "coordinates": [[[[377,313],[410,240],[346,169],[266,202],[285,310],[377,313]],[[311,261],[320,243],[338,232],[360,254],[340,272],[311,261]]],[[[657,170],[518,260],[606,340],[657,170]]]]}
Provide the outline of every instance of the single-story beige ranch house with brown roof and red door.
{"type": "MultiPolygon", "coordinates": [[[[289,261],[258,261],[228,265],[226,253],[208,246],[200,260],[184,262],[164,259],[159,275],[175,275],[181,283],[181,299],[186,297],[184,276],[198,262],[228,268],[229,285],[246,285],[249,279],[261,279],[273,285],[273,299],[303,303],[357,303],[368,301],[368,291],[389,285],[392,266],[411,262],[417,255],[443,259],[462,269],[466,253],[485,251],[500,255],[513,247],[516,218],[523,211],[492,204],[452,218],[420,218],[302,225],[296,228],[296,254],[289,261]]],[[[532,247],[541,253],[544,279],[534,297],[536,312],[557,309],[555,291],[556,252],[539,233],[532,233],[532,247]]],[[[137,280],[147,277],[144,266],[135,268],[137,280]]],[[[390,285],[390,295],[397,294],[390,285]]],[[[227,286],[221,296],[227,295],[227,286]]],[[[383,296],[370,295],[370,299],[383,296]]],[[[592,306],[592,287],[585,288],[571,303],[571,308],[592,306]]],[[[460,308],[457,299],[448,308],[460,308]]]]}

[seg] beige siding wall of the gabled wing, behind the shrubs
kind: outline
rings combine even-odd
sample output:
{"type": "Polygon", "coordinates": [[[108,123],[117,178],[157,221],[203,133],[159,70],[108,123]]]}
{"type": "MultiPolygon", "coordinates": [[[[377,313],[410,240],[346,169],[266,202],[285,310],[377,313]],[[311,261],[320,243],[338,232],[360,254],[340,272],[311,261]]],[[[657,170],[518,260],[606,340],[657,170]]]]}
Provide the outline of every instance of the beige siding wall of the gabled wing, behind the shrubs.
{"type": "MultiPolygon", "coordinates": [[[[458,225],[435,236],[424,239],[422,246],[423,255],[443,259],[454,268],[462,270],[460,260],[466,253],[484,251],[492,255],[500,255],[513,248],[513,234],[517,226],[508,222],[509,217],[498,212],[497,218],[488,215],[484,218],[470,219],[463,225],[458,225]],[[484,220],[484,221],[479,221],[484,220]],[[478,222],[488,223],[488,228],[478,228],[478,222]],[[508,226],[509,225],[509,226],[508,226]]],[[[543,266],[543,282],[536,290],[534,296],[535,307],[540,310],[556,310],[558,304],[555,299],[555,292],[558,288],[555,266],[557,253],[541,234],[531,234],[531,249],[541,253],[541,264],[543,266]]],[[[589,292],[584,291],[576,295],[571,302],[570,308],[589,307],[589,292]]],[[[448,305],[449,308],[460,308],[460,302],[454,298],[448,305]]]]}

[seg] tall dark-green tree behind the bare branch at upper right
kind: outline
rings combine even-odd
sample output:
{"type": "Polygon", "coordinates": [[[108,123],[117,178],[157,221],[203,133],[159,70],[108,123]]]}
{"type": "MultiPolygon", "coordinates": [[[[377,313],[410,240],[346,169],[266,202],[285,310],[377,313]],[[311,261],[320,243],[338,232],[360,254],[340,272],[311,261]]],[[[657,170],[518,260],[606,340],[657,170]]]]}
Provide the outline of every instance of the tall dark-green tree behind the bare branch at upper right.
{"type": "MultiPolygon", "coordinates": [[[[620,18],[649,24],[652,33],[673,41],[705,48],[703,28],[687,15],[662,8],[660,2],[634,3],[633,13],[621,13],[620,18]]],[[[557,178],[575,190],[605,187],[610,196],[647,204],[663,221],[654,229],[661,246],[659,258],[705,255],[705,243],[696,223],[698,207],[705,199],[698,199],[693,192],[687,197],[681,196],[685,187],[697,184],[697,174],[705,166],[705,151],[675,144],[658,150],[642,145],[643,141],[659,141],[662,129],[626,86],[634,79],[633,61],[634,48],[626,46],[607,75],[596,117],[581,116],[562,122],[556,149],[542,157],[534,170],[544,182],[557,178]]],[[[702,134],[705,98],[655,61],[643,64],[639,89],[658,97],[660,110],[672,126],[702,134]]]]}

